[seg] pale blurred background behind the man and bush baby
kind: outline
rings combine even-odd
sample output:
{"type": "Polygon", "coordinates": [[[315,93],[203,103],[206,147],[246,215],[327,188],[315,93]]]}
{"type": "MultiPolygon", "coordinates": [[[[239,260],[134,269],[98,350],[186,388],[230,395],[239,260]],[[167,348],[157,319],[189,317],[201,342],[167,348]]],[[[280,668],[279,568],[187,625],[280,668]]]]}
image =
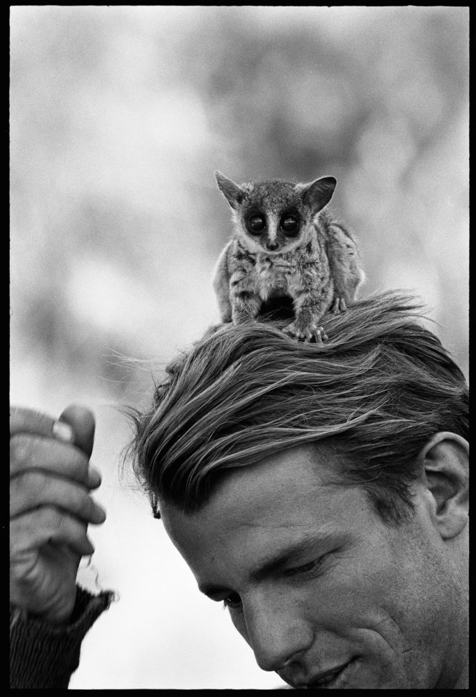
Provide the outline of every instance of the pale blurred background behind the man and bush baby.
{"type": "Polygon", "coordinates": [[[336,176],[361,295],[420,296],[468,375],[468,8],[10,6],[10,57],[11,399],[95,412],[81,574],[120,597],[70,687],[278,687],[120,473],[118,407],[219,321],[215,169],[336,176]]]}

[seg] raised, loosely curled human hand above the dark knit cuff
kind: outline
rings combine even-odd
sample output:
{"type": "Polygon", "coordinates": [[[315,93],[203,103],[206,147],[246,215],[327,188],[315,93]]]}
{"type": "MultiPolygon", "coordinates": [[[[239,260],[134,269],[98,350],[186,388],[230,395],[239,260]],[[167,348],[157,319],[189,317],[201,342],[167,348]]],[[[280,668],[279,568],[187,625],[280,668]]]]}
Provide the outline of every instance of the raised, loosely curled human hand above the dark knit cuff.
{"type": "Polygon", "coordinates": [[[10,602],[50,624],[70,618],[79,561],[94,551],[88,523],[106,519],[90,496],[101,482],[89,466],[94,429],[80,406],[58,421],[10,411],[10,602]]]}

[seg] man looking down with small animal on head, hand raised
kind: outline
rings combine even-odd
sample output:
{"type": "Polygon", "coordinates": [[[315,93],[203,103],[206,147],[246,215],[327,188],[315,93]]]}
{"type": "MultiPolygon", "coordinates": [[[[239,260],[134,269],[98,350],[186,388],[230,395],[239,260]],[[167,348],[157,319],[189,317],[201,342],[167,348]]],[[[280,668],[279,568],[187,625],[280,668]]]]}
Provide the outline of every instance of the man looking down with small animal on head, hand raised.
{"type": "MultiPolygon", "coordinates": [[[[468,390],[417,309],[362,300],[324,344],[212,328],[133,416],[154,515],[292,687],[468,687],[468,390]]],[[[13,687],[65,687],[111,599],[74,585],[93,420],[16,411],[11,442],[13,687]]]]}

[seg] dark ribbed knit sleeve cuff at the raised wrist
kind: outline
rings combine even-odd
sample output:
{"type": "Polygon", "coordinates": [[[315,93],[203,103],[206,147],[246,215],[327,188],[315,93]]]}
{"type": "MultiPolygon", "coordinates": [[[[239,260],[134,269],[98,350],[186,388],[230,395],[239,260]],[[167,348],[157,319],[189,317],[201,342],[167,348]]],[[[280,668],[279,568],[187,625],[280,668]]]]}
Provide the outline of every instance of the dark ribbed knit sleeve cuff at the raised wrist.
{"type": "Polygon", "coordinates": [[[10,606],[10,688],[65,689],[79,666],[81,641],[113,600],[111,591],[91,595],[77,586],[69,622],[47,625],[10,606]]]}

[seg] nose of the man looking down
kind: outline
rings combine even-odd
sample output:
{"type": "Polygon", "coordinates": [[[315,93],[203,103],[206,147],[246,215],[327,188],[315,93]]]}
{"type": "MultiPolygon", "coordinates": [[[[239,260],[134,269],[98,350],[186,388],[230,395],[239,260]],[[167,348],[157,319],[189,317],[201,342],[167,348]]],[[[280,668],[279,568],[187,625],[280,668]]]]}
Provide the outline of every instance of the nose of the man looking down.
{"type": "Polygon", "coordinates": [[[263,671],[279,671],[310,647],[311,629],[299,619],[296,608],[253,603],[245,611],[248,643],[263,671]]]}

